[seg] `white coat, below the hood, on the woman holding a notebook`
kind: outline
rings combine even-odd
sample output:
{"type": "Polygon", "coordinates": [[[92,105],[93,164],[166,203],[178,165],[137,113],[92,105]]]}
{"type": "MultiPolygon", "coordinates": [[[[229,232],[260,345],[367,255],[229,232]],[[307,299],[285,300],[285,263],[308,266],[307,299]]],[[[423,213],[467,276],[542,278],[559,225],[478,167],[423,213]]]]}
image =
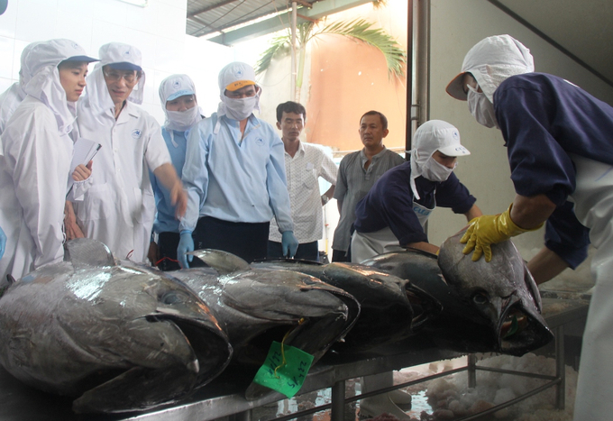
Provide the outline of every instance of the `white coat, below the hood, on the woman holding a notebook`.
{"type": "Polygon", "coordinates": [[[15,279],[61,261],[64,201],[72,140],[59,134],[56,116],[26,96],[2,134],[0,226],[6,233],[0,276],[15,279]]]}

